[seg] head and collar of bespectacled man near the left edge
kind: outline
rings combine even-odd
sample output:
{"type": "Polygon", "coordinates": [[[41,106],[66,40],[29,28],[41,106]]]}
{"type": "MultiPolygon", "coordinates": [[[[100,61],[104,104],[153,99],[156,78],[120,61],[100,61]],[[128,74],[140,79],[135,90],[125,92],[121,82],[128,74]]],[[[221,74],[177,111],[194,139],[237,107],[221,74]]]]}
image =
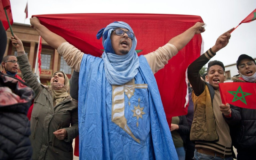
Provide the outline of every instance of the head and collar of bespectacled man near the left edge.
{"type": "Polygon", "coordinates": [[[12,76],[22,80],[21,77],[19,77],[19,75],[17,75],[17,72],[19,69],[19,64],[17,62],[16,56],[8,55],[8,56],[3,57],[1,65],[2,65],[2,69],[3,69],[2,72],[4,74],[12,75],[12,76]]]}

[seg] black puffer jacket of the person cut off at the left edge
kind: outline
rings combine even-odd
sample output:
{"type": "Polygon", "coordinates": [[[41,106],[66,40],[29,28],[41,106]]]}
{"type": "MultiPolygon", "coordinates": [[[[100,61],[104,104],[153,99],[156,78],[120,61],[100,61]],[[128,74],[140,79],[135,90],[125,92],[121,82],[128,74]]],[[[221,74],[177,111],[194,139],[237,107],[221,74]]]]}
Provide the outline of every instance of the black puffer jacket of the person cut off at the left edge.
{"type": "Polygon", "coordinates": [[[31,159],[30,121],[27,111],[34,92],[12,76],[0,72],[0,159],[31,159]]]}

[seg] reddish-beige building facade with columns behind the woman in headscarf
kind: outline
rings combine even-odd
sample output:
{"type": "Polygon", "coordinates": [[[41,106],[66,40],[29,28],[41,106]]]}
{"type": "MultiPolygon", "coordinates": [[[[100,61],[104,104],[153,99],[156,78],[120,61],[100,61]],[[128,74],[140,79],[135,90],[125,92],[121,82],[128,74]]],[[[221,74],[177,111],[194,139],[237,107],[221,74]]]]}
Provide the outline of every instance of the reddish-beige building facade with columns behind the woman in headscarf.
{"type": "MultiPolygon", "coordinates": [[[[13,23],[12,30],[15,35],[23,42],[23,46],[27,56],[31,69],[34,71],[35,61],[37,58],[37,50],[39,43],[39,34],[30,25],[13,23]]],[[[6,31],[7,34],[7,46],[5,55],[17,55],[16,48],[11,44],[11,32],[10,29],[6,31]]],[[[1,68],[2,71],[2,68],[1,68]]],[[[62,56],[57,53],[57,50],[49,46],[45,40],[42,39],[42,51],[41,51],[41,74],[40,81],[43,84],[47,84],[50,81],[51,76],[56,71],[63,71],[70,78],[72,69],[66,64],[62,56]]],[[[21,76],[21,72],[18,71],[18,75],[21,76]]]]}

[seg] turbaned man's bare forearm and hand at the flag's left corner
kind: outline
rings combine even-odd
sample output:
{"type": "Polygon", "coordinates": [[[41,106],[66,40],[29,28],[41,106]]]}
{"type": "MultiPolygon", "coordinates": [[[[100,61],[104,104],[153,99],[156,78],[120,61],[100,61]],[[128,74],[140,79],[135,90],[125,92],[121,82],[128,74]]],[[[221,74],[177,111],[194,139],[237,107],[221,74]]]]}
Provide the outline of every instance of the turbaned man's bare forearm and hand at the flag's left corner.
{"type": "Polygon", "coordinates": [[[64,38],[43,26],[37,17],[30,18],[30,24],[51,47],[58,49],[61,43],[66,42],[64,38]]]}

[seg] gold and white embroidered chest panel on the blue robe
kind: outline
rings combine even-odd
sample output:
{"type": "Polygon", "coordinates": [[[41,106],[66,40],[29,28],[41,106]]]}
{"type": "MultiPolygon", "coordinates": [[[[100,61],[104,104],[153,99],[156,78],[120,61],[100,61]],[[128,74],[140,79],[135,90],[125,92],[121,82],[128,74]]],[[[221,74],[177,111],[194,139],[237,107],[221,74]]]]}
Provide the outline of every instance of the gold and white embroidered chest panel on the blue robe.
{"type": "Polygon", "coordinates": [[[124,85],[112,86],[111,122],[111,126],[121,128],[120,134],[137,143],[145,141],[150,131],[147,84],[135,84],[133,79],[124,85]]]}

